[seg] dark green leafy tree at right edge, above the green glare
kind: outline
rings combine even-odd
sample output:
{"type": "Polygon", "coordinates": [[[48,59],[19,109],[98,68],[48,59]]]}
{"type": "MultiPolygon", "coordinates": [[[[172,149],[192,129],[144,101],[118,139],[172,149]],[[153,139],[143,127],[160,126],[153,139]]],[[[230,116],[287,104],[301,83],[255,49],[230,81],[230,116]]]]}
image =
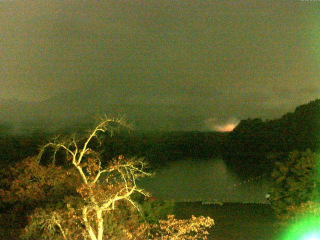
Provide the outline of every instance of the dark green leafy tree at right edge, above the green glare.
{"type": "Polygon", "coordinates": [[[291,206],[318,199],[318,160],[319,155],[307,149],[291,151],[284,163],[275,163],[271,206],[278,217],[285,217],[291,206]]]}

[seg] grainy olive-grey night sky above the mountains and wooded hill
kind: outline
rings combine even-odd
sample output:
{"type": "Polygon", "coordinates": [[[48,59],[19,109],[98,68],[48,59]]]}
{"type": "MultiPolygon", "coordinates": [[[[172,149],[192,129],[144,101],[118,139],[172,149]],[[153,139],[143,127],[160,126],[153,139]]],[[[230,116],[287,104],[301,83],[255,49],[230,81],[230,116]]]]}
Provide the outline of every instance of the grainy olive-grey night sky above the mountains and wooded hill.
{"type": "Polygon", "coordinates": [[[320,1],[2,0],[0,98],[116,88],[208,125],[272,118],[319,97],[319,42],[320,1]]]}

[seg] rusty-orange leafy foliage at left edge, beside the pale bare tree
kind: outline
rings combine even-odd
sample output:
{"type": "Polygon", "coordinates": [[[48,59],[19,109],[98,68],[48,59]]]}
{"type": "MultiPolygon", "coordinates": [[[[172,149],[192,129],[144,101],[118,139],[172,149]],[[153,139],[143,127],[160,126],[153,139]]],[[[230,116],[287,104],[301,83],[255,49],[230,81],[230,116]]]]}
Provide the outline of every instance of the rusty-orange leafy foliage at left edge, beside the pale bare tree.
{"type": "Polygon", "coordinates": [[[36,157],[28,157],[15,163],[6,170],[6,178],[1,183],[0,197],[4,202],[57,198],[70,194],[69,190],[76,184],[74,178],[61,166],[40,165],[36,157]]]}

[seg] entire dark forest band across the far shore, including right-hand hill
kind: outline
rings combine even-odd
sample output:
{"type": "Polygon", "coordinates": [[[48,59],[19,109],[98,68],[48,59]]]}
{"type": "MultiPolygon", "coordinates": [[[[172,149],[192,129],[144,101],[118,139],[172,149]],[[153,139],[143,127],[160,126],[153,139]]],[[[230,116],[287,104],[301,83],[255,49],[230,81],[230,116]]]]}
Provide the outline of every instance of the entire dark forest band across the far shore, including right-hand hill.
{"type": "MultiPolygon", "coordinates": [[[[75,128],[60,129],[72,133],[75,128]]],[[[82,127],[83,129],[83,127],[82,127]]],[[[146,157],[154,167],[181,158],[222,156],[227,165],[243,175],[270,173],[275,161],[284,160],[293,149],[316,151],[320,143],[320,99],[296,107],[273,120],[243,119],[231,132],[127,131],[106,137],[103,156],[146,157]]],[[[81,131],[78,128],[78,132],[81,131]]],[[[50,134],[32,132],[27,136],[0,137],[1,163],[17,161],[37,153],[38,145],[50,134]],[[11,150],[7,150],[11,149],[11,150]]]]}

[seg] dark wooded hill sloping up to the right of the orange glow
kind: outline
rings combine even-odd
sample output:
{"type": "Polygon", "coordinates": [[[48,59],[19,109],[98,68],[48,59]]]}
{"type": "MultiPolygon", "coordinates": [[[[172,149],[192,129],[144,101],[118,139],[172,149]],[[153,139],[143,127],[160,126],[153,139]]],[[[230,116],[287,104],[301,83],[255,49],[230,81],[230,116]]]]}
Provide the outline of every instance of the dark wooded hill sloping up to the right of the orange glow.
{"type": "Polygon", "coordinates": [[[230,132],[222,152],[227,164],[243,176],[270,173],[294,149],[320,146],[320,99],[299,105],[273,120],[248,118],[230,132]]]}

